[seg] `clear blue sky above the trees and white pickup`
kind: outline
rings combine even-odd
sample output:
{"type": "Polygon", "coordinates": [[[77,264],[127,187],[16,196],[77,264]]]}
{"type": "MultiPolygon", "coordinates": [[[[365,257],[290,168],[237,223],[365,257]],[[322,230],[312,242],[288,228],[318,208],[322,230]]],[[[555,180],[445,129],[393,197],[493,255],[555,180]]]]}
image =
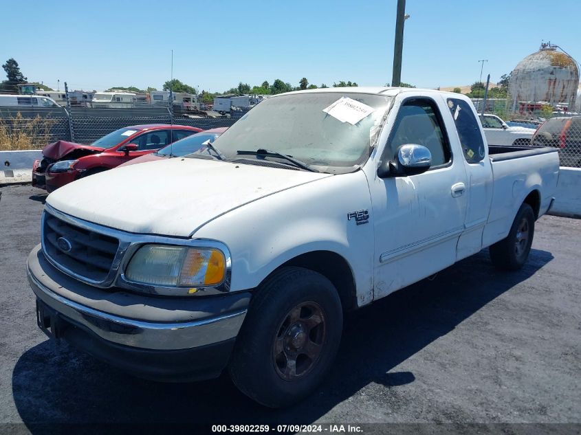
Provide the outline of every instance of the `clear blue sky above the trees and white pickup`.
{"type": "MultiPolygon", "coordinates": [[[[0,60],[57,88],[206,91],[238,82],[391,82],[397,0],[0,0],[0,60]]],[[[407,0],[402,81],[496,82],[542,41],[581,61],[581,0],[407,0]]],[[[0,70],[0,73],[3,71],[0,70]]],[[[0,78],[1,80],[2,78],[0,78]]]]}

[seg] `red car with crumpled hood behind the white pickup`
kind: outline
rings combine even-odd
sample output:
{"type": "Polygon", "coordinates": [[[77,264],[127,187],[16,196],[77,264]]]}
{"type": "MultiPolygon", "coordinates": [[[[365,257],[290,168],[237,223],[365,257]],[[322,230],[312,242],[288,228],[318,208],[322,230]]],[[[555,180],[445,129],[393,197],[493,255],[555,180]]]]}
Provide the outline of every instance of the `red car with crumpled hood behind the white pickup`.
{"type": "Polygon", "coordinates": [[[201,131],[196,127],[147,124],[124,127],[91,145],[58,140],[43,148],[34,161],[32,186],[52,192],[80,177],[96,174],[201,131]]]}

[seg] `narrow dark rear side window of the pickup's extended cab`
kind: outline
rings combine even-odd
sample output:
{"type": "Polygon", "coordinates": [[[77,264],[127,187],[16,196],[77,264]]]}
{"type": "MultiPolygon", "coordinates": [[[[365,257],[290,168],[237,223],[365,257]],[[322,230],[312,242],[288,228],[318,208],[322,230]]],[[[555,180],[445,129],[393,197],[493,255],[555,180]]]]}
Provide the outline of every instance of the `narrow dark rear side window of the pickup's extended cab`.
{"type": "Polygon", "coordinates": [[[448,107],[456,124],[464,158],[468,163],[478,163],[484,159],[486,148],[472,107],[459,98],[448,98],[448,107]]]}

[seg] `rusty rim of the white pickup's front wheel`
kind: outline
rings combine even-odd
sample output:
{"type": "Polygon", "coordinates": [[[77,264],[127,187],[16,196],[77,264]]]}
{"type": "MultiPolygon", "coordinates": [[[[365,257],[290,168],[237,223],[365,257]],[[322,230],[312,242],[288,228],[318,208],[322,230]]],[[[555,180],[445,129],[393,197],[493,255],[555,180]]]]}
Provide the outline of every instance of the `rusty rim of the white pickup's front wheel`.
{"type": "Polygon", "coordinates": [[[316,302],[302,302],[287,315],[276,331],[272,357],[276,373],[294,381],[309,373],[320,358],[327,328],[325,314],[316,302]]]}

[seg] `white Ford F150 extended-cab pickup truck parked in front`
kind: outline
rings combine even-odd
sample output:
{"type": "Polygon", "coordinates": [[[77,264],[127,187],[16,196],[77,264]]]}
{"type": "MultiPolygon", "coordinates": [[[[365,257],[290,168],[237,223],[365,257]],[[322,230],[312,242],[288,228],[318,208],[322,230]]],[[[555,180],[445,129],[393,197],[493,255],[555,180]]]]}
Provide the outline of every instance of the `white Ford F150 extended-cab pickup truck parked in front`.
{"type": "Polygon", "coordinates": [[[554,148],[488,148],[457,93],[268,98],[213,144],[47,197],[28,258],[38,324],[133,375],[228,369],[271,407],[312,392],[343,313],[490,247],[525,263],[554,148]]]}

